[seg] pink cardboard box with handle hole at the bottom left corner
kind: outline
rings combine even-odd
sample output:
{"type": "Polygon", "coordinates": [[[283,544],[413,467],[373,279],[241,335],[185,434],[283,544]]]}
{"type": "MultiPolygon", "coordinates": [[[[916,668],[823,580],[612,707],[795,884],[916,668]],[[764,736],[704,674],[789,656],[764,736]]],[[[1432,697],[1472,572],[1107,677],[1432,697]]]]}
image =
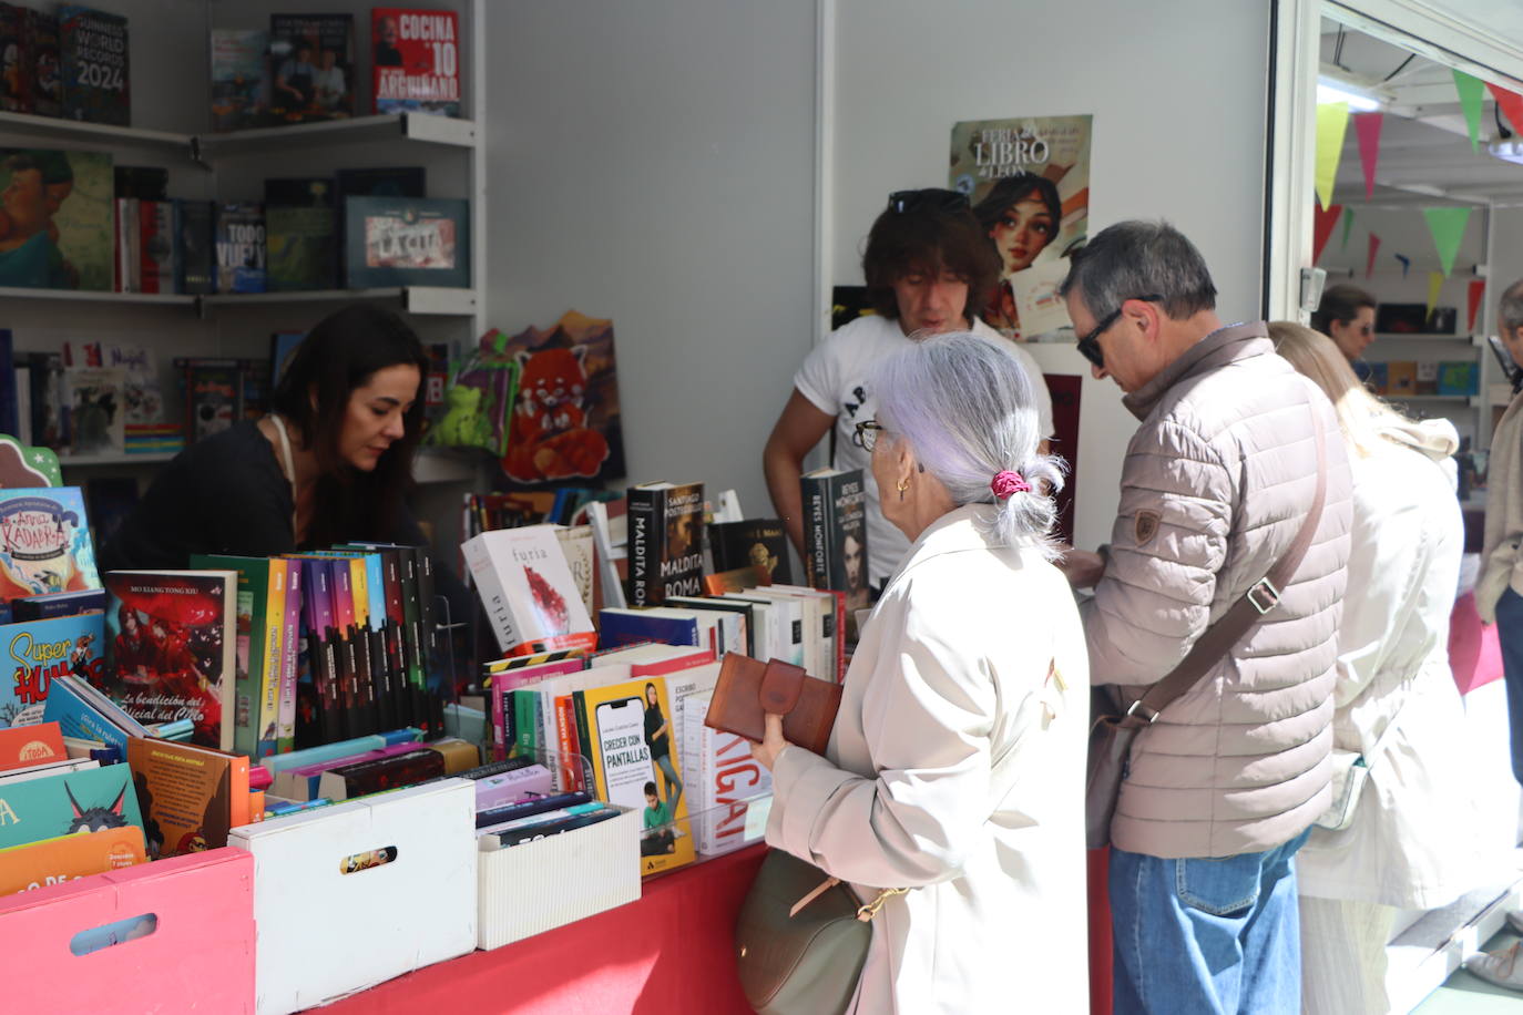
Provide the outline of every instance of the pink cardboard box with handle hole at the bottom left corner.
{"type": "Polygon", "coordinates": [[[8,1012],[253,1012],[253,860],[212,849],[6,896],[0,950],[8,1012]]]}

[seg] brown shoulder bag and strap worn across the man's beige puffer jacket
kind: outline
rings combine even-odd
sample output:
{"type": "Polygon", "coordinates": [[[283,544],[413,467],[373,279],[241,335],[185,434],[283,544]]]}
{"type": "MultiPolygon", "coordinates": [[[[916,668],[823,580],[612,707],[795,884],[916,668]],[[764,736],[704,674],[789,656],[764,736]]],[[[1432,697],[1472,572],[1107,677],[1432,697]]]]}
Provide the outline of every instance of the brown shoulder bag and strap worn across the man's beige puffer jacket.
{"type": "Polygon", "coordinates": [[[1301,522],[1301,531],[1263,578],[1255,581],[1241,600],[1234,603],[1221,618],[1189,648],[1189,653],[1168,676],[1147,689],[1125,712],[1101,688],[1094,688],[1090,697],[1089,768],[1084,778],[1084,840],[1090,849],[1110,845],[1110,820],[1116,814],[1121,797],[1121,782],[1127,778],[1132,758],[1132,741],[1153,724],[1157,714],[1193,688],[1220,662],[1232,645],[1279,603],[1279,590],[1290,584],[1311,546],[1322,505],[1328,492],[1327,447],[1323,446],[1322,420],[1313,409],[1317,432],[1317,495],[1301,522]]]}

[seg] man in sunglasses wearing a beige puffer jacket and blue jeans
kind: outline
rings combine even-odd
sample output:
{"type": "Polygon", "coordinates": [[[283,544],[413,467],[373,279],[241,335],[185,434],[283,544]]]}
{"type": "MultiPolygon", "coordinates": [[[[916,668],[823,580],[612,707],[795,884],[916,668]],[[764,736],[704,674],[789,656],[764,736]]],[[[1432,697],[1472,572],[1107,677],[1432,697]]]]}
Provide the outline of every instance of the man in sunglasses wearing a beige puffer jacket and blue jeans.
{"type": "Polygon", "coordinates": [[[1263,321],[1223,327],[1200,253],[1121,222],[1062,292],[1097,379],[1141,420],[1109,555],[1072,554],[1090,676],[1122,708],[1285,555],[1327,502],[1292,581],[1132,744],[1110,826],[1116,1012],[1293,1012],[1295,852],[1331,802],[1336,632],[1351,525],[1333,406],[1275,355],[1263,321]]]}

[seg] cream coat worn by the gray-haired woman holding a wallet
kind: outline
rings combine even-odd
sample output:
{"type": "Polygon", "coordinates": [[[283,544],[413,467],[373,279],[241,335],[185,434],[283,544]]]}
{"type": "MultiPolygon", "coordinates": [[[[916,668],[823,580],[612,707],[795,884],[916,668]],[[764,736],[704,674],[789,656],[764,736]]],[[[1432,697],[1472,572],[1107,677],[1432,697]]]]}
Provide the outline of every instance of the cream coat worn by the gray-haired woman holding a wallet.
{"type": "Polygon", "coordinates": [[[827,756],[789,746],[772,770],[768,843],[864,898],[914,889],[873,921],[864,1015],[1089,1010],[1084,633],[1039,551],[982,534],[990,510],[956,508],[909,548],[827,756]]]}

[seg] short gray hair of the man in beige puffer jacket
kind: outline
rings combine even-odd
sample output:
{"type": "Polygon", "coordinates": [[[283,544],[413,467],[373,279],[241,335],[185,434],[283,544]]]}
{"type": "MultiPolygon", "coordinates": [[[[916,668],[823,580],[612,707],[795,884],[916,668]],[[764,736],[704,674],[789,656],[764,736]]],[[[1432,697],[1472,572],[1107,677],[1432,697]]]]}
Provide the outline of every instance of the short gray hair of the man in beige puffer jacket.
{"type": "Polygon", "coordinates": [[[1217,306],[1217,286],[1196,245],[1168,222],[1116,222],[1074,254],[1060,295],[1078,289],[1097,321],[1125,300],[1161,297],[1182,321],[1217,306]]]}

